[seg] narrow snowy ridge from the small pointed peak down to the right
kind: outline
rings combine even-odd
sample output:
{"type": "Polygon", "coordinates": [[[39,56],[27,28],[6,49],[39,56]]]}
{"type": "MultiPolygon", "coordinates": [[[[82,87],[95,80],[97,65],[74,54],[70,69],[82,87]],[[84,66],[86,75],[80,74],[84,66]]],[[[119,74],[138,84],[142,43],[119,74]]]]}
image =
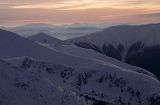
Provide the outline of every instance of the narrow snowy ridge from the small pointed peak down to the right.
{"type": "Polygon", "coordinates": [[[113,64],[117,67],[122,67],[128,70],[132,70],[135,72],[141,72],[143,74],[155,77],[155,75],[153,75],[152,73],[143,70],[142,68],[138,68],[135,66],[131,66],[129,64],[120,62],[118,60],[115,60],[111,57],[107,57],[103,54],[100,54],[98,52],[92,51],[90,49],[84,49],[84,48],[80,48],[77,47],[73,44],[69,44],[69,43],[65,43],[65,42],[57,42],[56,40],[52,40],[52,37],[48,37],[46,35],[41,35],[41,37],[39,36],[35,36],[35,38],[31,38],[30,40],[35,41],[36,43],[43,45],[49,49],[52,49],[53,51],[58,51],[58,52],[62,52],[65,53],[67,55],[71,55],[71,56],[75,56],[75,57],[80,57],[80,58],[84,58],[84,59],[91,59],[97,62],[103,62],[103,63],[110,63],[113,64]],[[41,39],[42,38],[42,39],[41,39]],[[37,39],[37,40],[34,40],[37,39]],[[42,40],[47,39],[47,42],[44,42],[42,40]],[[56,45],[55,45],[56,43],[56,45]]]}

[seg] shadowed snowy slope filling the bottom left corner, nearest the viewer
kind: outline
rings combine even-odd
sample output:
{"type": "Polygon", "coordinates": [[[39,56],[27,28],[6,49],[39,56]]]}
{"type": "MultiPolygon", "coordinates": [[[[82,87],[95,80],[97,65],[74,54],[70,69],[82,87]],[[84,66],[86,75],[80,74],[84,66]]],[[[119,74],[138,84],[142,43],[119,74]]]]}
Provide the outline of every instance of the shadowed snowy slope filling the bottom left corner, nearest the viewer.
{"type": "Polygon", "coordinates": [[[0,61],[1,105],[85,105],[70,90],[56,86],[38,73],[0,61]]]}

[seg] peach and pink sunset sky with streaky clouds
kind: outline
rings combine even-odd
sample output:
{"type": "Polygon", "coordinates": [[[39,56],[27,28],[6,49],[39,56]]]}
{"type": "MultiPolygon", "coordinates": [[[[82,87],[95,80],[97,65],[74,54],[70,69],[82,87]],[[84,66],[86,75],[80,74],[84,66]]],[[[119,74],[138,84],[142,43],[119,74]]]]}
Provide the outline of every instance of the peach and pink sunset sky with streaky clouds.
{"type": "Polygon", "coordinates": [[[160,22],[160,0],[0,0],[0,26],[160,22]]]}

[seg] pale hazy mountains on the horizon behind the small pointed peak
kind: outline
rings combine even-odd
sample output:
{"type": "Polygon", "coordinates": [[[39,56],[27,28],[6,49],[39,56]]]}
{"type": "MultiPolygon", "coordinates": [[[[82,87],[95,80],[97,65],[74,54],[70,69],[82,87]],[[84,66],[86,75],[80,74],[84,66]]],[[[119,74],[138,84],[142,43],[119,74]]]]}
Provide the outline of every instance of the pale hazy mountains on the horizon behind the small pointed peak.
{"type": "Polygon", "coordinates": [[[38,33],[46,33],[59,39],[69,39],[83,36],[89,33],[102,30],[106,25],[91,24],[70,24],[70,25],[50,25],[50,24],[27,24],[17,27],[4,27],[3,29],[17,33],[23,37],[32,36],[38,33]]]}

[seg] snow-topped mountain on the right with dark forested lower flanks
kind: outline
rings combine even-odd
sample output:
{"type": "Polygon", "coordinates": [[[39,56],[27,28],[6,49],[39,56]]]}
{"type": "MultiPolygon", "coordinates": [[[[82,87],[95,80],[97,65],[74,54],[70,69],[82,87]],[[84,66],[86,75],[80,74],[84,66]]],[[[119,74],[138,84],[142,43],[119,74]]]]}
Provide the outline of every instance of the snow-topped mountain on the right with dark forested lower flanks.
{"type": "Polygon", "coordinates": [[[160,77],[160,24],[115,26],[68,41],[148,69],[160,77]]]}

